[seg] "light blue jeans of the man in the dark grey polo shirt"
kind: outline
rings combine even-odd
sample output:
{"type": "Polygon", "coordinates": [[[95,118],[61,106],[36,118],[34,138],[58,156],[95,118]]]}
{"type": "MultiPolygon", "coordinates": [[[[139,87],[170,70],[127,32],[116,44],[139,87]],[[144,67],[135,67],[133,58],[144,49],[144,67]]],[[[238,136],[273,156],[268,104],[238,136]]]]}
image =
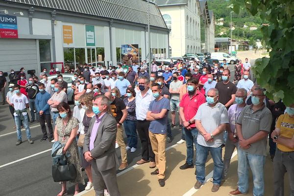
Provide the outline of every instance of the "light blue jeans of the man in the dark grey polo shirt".
{"type": "Polygon", "coordinates": [[[238,178],[239,191],[248,191],[248,169],[250,167],[253,174],[253,196],[264,195],[264,164],[266,157],[245,152],[241,147],[238,148],[238,178]]]}

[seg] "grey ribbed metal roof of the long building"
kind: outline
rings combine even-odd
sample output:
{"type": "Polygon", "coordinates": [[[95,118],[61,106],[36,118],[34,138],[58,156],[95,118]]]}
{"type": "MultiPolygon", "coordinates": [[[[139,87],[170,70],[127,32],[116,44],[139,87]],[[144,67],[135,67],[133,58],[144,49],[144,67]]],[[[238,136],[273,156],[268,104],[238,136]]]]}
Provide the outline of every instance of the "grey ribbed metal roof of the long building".
{"type": "MultiPolygon", "coordinates": [[[[88,14],[138,24],[148,24],[147,0],[5,0],[16,3],[51,8],[56,11],[88,14]]],[[[167,28],[161,12],[150,2],[150,25],[167,28]]]]}

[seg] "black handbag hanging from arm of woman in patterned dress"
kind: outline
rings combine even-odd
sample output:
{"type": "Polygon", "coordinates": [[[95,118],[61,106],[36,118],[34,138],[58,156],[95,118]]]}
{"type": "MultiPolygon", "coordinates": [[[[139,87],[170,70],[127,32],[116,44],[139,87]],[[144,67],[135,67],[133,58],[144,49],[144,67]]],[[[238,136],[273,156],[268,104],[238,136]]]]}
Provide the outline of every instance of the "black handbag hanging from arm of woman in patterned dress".
{"type": "Polygon", "coordinates": [[[52,165],[52,177],[54,182],[71,181],[76,178],[76,170],[73,164],[69,164],[68,157],[66,156],[66,165],[52,165]]]}

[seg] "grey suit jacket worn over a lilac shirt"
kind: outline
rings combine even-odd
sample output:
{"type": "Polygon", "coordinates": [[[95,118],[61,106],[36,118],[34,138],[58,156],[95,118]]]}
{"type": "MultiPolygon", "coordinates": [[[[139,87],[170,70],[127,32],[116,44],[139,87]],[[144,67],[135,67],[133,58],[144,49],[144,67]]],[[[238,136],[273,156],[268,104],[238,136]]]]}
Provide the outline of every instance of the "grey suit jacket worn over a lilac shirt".
{"type": "Polygon", "coordinates": [[[87,134],[84,139],[83,153],[90,151],[93,161],[97,163],[98,171],[106,171],[117,167],[119,164],[117,154],[115,152],[115,139],[117,134],[117,123],[112,115],[105,113],[99,124],[94,148],[89,150],[90,137],[96,117],[92,118],[87,134]]]}

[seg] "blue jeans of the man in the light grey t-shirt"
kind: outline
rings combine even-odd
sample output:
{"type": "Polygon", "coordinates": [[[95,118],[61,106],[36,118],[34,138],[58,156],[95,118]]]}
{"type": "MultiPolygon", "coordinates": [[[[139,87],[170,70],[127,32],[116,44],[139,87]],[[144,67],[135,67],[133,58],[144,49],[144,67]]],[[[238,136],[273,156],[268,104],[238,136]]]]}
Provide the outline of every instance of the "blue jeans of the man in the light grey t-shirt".
{"type": "Polygon", "coordinates": [[[196,147],[196,179],[204,183],[205,180],[205,163],[210,151],[211,157],[214,162],[213,169],[213,184],[221,184],[221,174],[223,170],[223,163],[221,159],[221,146],[220,147],[204,147],[197,144],[196,147]]]}

